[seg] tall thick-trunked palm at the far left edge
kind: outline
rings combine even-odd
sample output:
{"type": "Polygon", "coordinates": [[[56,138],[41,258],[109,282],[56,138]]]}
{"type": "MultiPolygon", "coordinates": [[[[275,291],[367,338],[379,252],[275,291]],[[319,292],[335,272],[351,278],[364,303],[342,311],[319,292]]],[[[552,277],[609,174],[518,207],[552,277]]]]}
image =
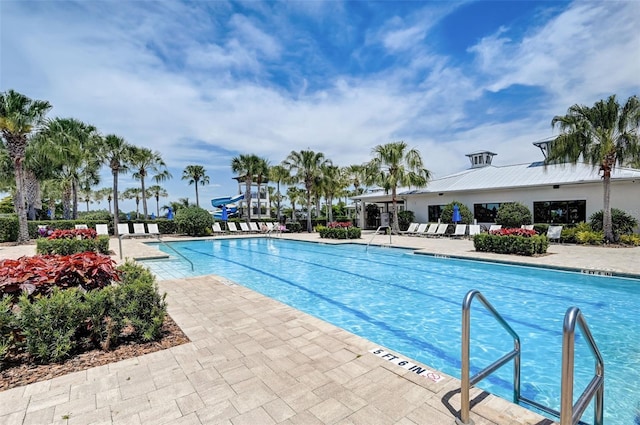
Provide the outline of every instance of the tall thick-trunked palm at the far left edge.
{"type": "Polygon", "coordinates": [[[44,123],[44,117],[51,109],[49,102],[32,100],[14,90],[0,94],[0,132],[9,158],[13,164],[16,181],[16,212],[18,213],[18,243],[29,240],[27,210],[24,196],[23,162],[29,135],[44,123]]]}

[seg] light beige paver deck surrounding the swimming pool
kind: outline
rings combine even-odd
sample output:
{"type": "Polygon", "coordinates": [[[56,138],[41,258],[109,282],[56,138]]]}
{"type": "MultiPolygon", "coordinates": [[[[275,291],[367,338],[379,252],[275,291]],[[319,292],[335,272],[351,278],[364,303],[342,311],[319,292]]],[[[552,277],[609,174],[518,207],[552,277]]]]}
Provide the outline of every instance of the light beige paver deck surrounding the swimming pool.
{"type": "MultiPolygon", "coordinates": [[[[282,237],[320,240],[317,234],[282,237]]],[[[149,241],[123,240],[124,256],[157,257],[155,247],[144,244],[149,241]]],[[[388,241],[380,235],[373,243],[388,241]]],[[[392,245],[640,275],[640,248],[553,244],[543,257],[493,258],[473,251],[469,240],[394,236],[392,245]]],[[[118,252],[116,238],[111,247],[118,252]]],[[[34,245],[0,248],[0,258],[34,253],[34,245]]],[[[159,286],[190,343],[0,392],[0,423],[454,423],[460,409],[455,378],[432,382],[374,355],[379,346],[370,341],[216,276],[159,286]]],[[[478,425],[552,423],[480,390],[472,390],[474,397],[471,417],[478,425]]]]}

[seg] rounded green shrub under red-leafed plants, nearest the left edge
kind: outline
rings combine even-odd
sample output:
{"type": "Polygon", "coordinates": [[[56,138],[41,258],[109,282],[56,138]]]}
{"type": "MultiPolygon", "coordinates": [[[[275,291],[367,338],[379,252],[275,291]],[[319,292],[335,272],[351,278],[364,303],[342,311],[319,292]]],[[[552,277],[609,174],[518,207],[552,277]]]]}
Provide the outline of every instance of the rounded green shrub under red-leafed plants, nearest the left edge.
{"type": "Polygon", "coordinates": [[[75,335],[85,317],[77,289],[54,288],[49,297],[33,301],[23,294],[18,307],[25,348],[37,362],[57,362],[73,353],[78,342],[75,335]]]}

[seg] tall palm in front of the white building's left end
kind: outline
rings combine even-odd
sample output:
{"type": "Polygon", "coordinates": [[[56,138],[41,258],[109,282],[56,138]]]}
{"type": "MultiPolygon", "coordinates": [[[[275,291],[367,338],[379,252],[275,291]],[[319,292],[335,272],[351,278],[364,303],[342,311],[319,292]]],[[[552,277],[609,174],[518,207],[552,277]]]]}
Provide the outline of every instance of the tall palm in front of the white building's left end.
{"type": "Polygon", "coordinates": [[[408,149],[405,142],[378,145],[372,151],[374,158],[368,164],[371,182],[391,191],[393,223],[392,233],[400,233],[396,195],[398,186],[425,187],[431,172],[423,168],[422,157],[416,149],[408,149]]]}

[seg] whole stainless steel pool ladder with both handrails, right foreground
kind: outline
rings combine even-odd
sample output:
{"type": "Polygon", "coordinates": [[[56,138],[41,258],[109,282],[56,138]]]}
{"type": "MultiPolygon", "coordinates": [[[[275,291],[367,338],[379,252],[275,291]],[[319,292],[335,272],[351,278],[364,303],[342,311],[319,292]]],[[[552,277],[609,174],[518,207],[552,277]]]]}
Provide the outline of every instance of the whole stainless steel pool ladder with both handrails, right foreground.
{"type": "Polygon", "coordinates": [[[541,411],[560,419],[560,425],[575,425],[580,422],[585,409],[595,397],[594,425],[602,425],[604,411],[604,362],[602,355],[593,339],[587,322],[577,307],[570,307],[564,316],[562,331],[562,373],[560,384],[560,411],[551,409],[534,400],[527,399],[520,394],[520,337],[513,328],[504,320],[498,311],[487,301],[487,299],[477,290],[471,290],[464,297],[462,302],[462,371],[461,371],[461,400],[460,417],[456,418],[456,424],[469,425],[473,421],[469,418],[470,400],[469,390],[471,386],[477,384],[482,379],[491,375],[505,363],[513,359],[513,402],[525,403],[541,411]],[[485,306],[498,323],[513,338],[513,350],[496,360],[474,376],[469,376],[470,369],[470,335],[471,335],[471,302],[474,298],[485,306]],[[576,324],[589,345],[591,354],[595,358],[595,374],[591,382],[585,388],[580,398],[573,404],[573,364],[575,346],[576,324]]]}

